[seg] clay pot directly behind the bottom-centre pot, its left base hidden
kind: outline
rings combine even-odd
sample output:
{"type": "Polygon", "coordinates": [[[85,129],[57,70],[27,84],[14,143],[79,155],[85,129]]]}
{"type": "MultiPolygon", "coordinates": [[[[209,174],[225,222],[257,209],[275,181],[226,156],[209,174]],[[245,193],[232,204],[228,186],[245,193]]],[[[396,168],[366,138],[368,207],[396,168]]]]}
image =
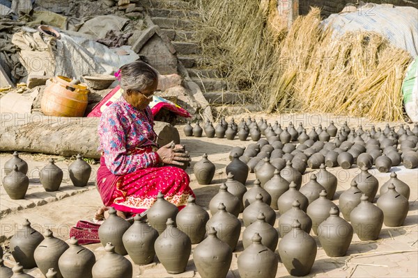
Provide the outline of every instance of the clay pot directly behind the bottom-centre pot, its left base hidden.
{"type": "Polygon", "coordinates": [[[241,222],[235,215],[226,211],[223,203],[219,204],[218,212],[206,222],[207,231],[210,227],[215,227],[218,238],[228,244],[231,250],[235,250],[240,237],[241,222]]]}

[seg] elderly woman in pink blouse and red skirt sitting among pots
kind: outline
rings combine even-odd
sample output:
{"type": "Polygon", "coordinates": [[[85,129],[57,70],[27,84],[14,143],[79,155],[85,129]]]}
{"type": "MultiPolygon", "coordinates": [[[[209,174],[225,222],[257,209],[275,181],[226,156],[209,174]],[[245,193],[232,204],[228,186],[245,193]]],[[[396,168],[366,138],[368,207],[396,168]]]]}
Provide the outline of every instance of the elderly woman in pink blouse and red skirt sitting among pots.
{"type": "Polygon", "coordinates": [[[157,72],[144,62],[121,67],[122,97],[107,108],[100,118],[100,168],[97,187],[105,207],[95,218],[103,218],[109,206],[118,215],[144,213],[162,192],[178,206],[187,204],[189,176],[179,167],[190,160],[183,146],[171,144],[158,148],[153,130],[153,114],[148,104],[157,90],[157,72]]]}

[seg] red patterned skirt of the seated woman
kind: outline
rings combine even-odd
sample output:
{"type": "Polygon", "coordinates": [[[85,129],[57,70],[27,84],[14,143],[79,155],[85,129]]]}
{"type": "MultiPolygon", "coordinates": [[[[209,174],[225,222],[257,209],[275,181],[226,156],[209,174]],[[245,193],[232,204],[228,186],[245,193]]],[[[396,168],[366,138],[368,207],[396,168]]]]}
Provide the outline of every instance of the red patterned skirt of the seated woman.
{"type": "Polygon", "coordinates": [[[189,175],[178,167],[149,167],[130,174],[116,176],[107,169],[104,157],[100,158],[97,185],[105,206],[117,211],[143,213],[157,200],[161,191],[164,199],[182,209],[190,195],[189,175]]]}

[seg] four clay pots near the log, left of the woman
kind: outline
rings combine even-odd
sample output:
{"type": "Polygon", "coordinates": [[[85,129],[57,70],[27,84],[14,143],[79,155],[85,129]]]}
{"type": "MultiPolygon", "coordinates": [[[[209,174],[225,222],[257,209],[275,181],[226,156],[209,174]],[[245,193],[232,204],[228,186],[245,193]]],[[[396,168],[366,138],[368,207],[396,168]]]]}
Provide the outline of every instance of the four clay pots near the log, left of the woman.
{"type": "MultiPolygon", "coordinates": [[[[5,164],[6,176],[3,178],[3,187],[10,199],[23,199],[29,188],[27,163],[19,157],[17,152],[13,153],[5,164]]],[[[77,154],[77,160],[68,166],[70,179],[74,186],[83,187],[88,183],[91,174],[91,166],[83,160],[81,154],[77,154]]],[[[45,191],[52,192],[59,189],[63,180],[63,171],[54,164],[54,159],[49,158],[49,164],[39,172],[39,179],[45,191]]]]}

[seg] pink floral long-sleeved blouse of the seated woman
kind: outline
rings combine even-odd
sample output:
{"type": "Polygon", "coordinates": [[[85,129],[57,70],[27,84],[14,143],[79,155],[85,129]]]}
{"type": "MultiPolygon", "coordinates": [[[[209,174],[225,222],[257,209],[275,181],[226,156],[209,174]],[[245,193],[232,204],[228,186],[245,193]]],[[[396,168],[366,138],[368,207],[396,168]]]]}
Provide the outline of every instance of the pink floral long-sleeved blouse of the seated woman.
{"type": "Polygon", "coordinates": [[[159,163],[156,152],[131,154],[141,147],[157,146],[151,109],[140,111],[120,97],[100,118],[99,151],[107,168],[116,175],[134,172],[159,163]]]}

